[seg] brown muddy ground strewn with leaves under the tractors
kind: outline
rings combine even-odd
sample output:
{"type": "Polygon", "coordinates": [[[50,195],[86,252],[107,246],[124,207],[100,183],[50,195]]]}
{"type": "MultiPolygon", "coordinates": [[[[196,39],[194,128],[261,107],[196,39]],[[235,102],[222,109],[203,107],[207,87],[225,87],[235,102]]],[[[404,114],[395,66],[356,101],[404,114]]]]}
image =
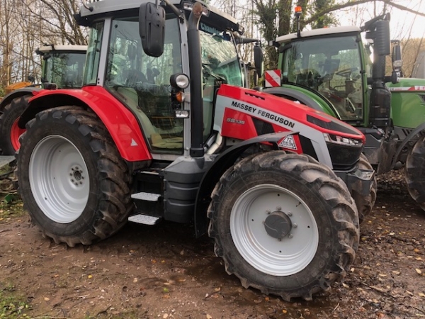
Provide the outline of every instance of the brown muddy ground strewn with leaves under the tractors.
{"type": "Polygon", "coordinates": [[[26,298],[22,318],[422,318],[424,230],[402,177],[380,177],[344,283],[288,303],[242,288],[191,225],[128,223],[96,245],[67,248],[28,216],[11,216],[0,220],[0,291],[26,298]]]}

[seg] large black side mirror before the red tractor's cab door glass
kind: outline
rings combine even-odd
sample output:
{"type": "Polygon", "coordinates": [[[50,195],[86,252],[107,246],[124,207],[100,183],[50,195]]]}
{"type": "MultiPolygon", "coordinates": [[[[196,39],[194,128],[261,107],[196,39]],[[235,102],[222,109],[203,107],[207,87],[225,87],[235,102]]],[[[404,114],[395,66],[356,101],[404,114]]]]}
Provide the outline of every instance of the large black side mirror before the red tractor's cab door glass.
{"type": "Polygon", "coordinates": [[[164,52],[165,10],[152,2],[142,4],[139,9],[139,33],[145,53],[160,57],[164,52]]]}

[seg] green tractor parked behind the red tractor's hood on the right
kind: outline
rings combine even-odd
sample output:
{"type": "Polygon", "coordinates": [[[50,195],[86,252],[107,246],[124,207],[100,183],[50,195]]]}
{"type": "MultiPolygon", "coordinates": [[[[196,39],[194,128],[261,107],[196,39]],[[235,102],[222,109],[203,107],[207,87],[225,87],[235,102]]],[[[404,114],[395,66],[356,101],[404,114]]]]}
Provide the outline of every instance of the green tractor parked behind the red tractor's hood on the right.
{"type": "Polygon", "coordinates": [[[263,91],[361,130],[366,136],[363,166],[371,164],[377,174],[404,167],[409,193],[425,210],[425,80],[400,77],[401,49],[390,40],[390,15],[361,28],[297,31],[273,45],[278,69],[266,71],[263,91]],[[385,76],[390,54],[393,70],[385,76]]]}

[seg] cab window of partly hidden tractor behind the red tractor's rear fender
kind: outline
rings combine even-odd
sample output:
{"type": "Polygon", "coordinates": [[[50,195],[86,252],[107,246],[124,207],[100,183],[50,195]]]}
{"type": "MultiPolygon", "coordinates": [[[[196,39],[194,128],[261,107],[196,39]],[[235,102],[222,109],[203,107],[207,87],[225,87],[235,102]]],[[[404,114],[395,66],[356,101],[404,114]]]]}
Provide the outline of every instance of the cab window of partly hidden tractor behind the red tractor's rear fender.
{"type": "Polygon", "coordinates": [[[86,52],[49,52],[45,55],[42,82],[58,89],[77,89],[83,84],[86,52]]]}

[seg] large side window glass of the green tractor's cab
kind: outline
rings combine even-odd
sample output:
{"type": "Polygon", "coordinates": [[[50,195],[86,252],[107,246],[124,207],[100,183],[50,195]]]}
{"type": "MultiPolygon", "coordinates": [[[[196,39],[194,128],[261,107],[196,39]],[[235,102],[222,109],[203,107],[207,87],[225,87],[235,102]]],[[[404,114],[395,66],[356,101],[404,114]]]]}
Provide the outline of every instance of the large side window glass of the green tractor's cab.
{"type": "Polygon", "coordinates": [[[363,117],[361,71],[355,35],[307,38],[291,43],[283,52],[284,81],[318,91],[343,121],[363,117]]]}

